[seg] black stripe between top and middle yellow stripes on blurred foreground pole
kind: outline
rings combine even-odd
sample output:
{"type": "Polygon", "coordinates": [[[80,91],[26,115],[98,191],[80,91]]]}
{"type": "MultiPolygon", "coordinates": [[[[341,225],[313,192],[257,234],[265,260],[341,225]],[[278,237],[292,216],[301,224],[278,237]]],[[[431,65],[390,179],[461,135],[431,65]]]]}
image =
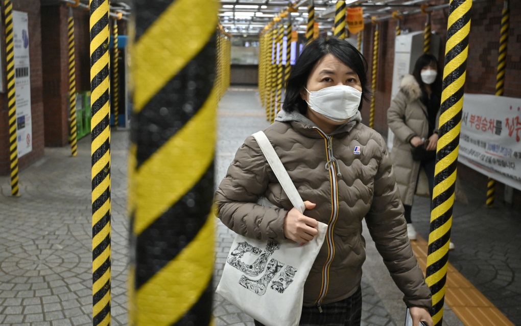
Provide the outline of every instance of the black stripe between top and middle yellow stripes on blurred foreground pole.
{"type": "Polygon", "coordinates": [[[212,34],[179,74],[132,117],[131,137],[137,145],[137,168],[176,135],[208,99],[215,82],[215,49],[216,35],[212,34]],[[153,130],[161,132],[151,132],[153,130]]]}

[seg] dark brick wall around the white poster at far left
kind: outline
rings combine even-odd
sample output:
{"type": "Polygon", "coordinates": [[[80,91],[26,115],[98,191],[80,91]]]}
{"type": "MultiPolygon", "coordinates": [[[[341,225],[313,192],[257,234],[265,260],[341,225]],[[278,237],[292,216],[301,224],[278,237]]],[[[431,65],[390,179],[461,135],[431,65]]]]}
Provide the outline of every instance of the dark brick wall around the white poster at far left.
{"type": "MultiPolygon", "coordinates": [[[[19,159],[19,168],[22,169],[43,156],[44,152],[44,124],[43,124],[43,97],[42,97],[42,38],[40,24],[40,2],[32,0],[18,0],[13,2],[13,9],[29,14],[29,51],[31,63],[31,121],[32,121],[32,152],[19,159]]],[[[2,29],[3,31],[3,29],[2,29]]],[[[4,42],[4,34],[1,37],[4,42]]],[[[4,46],[3,46],[4,47],[4,46]]],[[[2,49],[5,69],[5,49],[2,49]]],[[[5,75],[5,70],[3,72],[5,75]]],[[[4,82],[5,82],[5,77],[4,82]]],[[[8,108],[7,94],[0,94],[0,174],[9,174],[9,135],[8,135],[8,108]]]]}

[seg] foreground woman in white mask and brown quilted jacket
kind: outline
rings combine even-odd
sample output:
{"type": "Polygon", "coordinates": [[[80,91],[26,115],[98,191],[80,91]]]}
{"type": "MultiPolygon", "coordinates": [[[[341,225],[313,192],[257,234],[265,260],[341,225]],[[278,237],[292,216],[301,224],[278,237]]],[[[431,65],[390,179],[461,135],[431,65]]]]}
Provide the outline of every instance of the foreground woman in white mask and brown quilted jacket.
{"type": "MultiPolygon", "coordinates": [[[[403,207],[383,138],[361,123],[366,62],[348,41],[319,38],[291,71],[283,110],[264,130],[306,211],[294,209],[253,137],[237,151],[216,194],[218,217],[239,234],[306,243],[317,221],[326,240],[304,285],[301,325],[361,323],[365,218],[411,307],[414,326],[432,320],[430,291],[407,238],[403,207]],[[266,197],[276,208],[259,206],[266,197]]],[[[256,325],[260,323],[256,322],[256,325]]]]}

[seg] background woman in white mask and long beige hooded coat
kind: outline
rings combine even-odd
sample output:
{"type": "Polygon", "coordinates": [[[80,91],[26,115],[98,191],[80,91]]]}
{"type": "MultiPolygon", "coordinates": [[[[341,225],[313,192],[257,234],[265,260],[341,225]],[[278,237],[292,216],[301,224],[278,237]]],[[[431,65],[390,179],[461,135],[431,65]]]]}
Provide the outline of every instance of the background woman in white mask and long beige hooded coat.
{"type": "Polygon", "coordinates": [[[419,178],[421,170],[427,175],[429,194],[432,196],[440,102],[438,61],[431,54],[421,55],[413,75],[403,77],[400,91],[387,111],[387,123],[394,133],[391,158],[411,240],[416,239],[411,210],[418,180],[423,180],[419,178]]]}

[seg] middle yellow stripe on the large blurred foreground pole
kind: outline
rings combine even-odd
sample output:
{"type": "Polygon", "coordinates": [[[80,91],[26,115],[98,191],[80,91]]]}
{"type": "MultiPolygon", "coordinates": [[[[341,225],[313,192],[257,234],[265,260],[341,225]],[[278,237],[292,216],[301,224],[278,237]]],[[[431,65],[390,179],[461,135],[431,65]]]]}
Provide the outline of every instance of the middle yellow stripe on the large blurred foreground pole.
{"type": "Polygon", "coordinates": [[[139,167],[135,180],[134,234],[140,235],[163,212],[186,194],[206,172],[214,157],[216,89],[199,112],[139,167]],[[184,160],[198,157],[198,160],[184,160]],[[165,181],[168,176],[169,182],[165,181]],[[149,189],[154,189],[153,192],[149,189]]]}

